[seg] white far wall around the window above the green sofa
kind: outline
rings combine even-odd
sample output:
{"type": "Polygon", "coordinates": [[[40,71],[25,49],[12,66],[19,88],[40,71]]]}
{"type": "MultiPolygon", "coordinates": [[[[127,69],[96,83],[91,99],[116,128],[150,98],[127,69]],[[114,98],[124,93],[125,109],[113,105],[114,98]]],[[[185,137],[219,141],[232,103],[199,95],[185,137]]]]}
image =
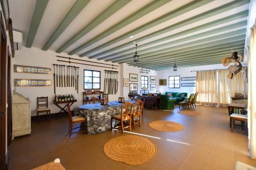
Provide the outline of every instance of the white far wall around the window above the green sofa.
{"type": "MultiPolygon", "coordinates": [[[[166,69],[166,70],[159,70],[156,71],[157,74],[157,83],[159,83],[159,79],[166,79],[167,85],[166,86],[157,86],[158,91],[161,93],[165,93],[166,91],[169,92],[187,92],[188,96],[191,93],[196,92],[196,87],[180,87],[180,88],[169,88],[168,86],[168,77],[169,76],[180,76],[182,77],[196,77],[198,70],[208,70],[208,69],[222,69],[227,68],[224,67],[222,64],[215,64],[215,65],[204,65],[204,66],[194,66],[194,67],[181,67],[178,70],[174,71],[173,69],[166,69]],[[191,72],[194,71],[194,72],[191,72]]],[[[181,81],[180,83],[196,83],[196,81],[181,81]]]]}

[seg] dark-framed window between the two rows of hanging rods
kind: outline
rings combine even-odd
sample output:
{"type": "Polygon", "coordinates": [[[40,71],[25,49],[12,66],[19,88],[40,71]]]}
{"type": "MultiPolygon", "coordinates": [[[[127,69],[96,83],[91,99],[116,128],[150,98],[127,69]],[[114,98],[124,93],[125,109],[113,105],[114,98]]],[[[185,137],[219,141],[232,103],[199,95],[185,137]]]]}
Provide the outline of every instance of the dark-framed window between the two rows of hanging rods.
{"type": "Polygon", "coordinates": [[[83,80],[84,89],[100,89],[100,71],[84,69],[83,80]]]}

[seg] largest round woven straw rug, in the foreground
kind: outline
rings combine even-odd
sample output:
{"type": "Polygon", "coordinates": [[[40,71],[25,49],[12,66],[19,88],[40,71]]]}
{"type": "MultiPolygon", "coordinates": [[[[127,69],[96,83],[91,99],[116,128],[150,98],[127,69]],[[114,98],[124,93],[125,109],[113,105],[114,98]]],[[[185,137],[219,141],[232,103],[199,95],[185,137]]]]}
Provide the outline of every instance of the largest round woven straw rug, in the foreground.
{"type": "Polygon", "coordinates": [[[103,151],[113,160],[138,165],[150,161],[156,155],[157,148],[147,138],[123,135],[106,142],[103,151]]]}

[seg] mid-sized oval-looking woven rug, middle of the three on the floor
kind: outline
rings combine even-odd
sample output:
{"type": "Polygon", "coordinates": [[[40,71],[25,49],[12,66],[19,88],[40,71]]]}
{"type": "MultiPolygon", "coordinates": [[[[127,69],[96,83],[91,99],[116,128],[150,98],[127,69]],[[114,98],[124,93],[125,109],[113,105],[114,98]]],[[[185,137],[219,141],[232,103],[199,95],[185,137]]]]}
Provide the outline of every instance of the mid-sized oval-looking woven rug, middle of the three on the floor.
{"type": "Polygon", "coordinates": [[[156,120],[148,124],[152,129],[163,132],[179,132],[183,130],[183,126],[172,121],[156,120]]]}

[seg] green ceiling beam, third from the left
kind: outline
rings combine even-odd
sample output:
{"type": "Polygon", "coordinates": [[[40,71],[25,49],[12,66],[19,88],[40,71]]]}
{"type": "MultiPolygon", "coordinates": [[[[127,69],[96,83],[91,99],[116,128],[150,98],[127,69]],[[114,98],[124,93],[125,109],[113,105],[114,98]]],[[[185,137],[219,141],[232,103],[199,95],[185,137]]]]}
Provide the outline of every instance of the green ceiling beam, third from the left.
{"type": "Polygon", "coordinates": [[[81,37],[89,33],[91,30],[97,27],[101,22],[109,18],[111,15],[116,13],[118,10],[120,10],[122,7],[124,7],[130,2],[131,0],[125,0],[125,1],[115,1],[114,3],[112,3],[102,13],[100,13],[97,17],[95,17],[86,27],[80,30],[75,36],[70,38],[65,44],[63,44],[56,52],[61,53],[63,50],[65,50],[74,42],[76,42],[78,39],[80,39],[81,37]]]}

